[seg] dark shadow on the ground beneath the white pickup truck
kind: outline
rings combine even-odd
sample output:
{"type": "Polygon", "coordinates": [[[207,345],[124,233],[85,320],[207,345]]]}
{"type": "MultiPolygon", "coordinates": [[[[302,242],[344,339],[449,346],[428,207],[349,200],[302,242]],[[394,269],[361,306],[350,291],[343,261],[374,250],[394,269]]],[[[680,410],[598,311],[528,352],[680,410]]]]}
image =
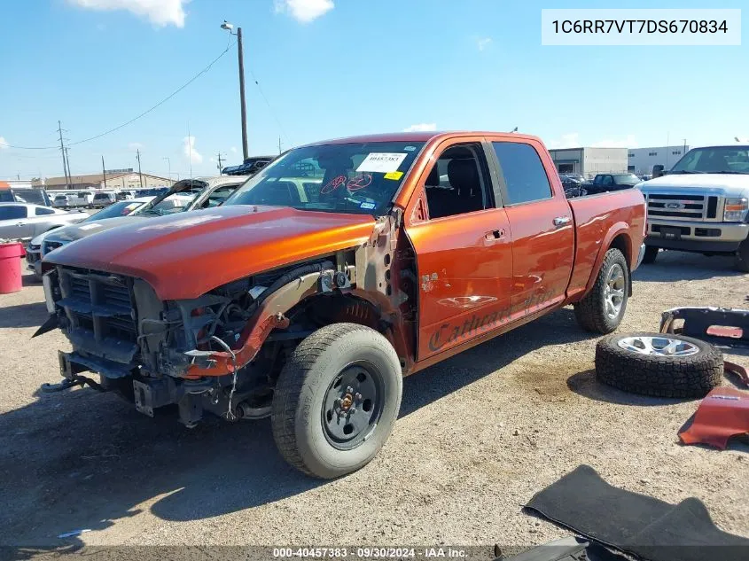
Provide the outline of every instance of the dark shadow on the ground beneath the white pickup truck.
{"type": "Polygon", "coordinates": [[[734,258],[730,256],[706,257],[699,253],[667,251],[660,252],[654,263],[640,265],[632,278],[650,283],[673,283],[714,277],[740,277],[744,274],[734,269],[734,258]]]}

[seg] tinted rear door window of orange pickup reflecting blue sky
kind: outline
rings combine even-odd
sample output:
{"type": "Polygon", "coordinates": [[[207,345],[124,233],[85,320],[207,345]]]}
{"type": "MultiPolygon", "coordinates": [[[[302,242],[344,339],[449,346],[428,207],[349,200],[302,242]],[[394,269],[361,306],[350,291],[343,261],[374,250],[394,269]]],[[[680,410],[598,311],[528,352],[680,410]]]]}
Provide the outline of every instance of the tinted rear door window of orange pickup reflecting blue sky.
{"type": "Polygon", "coordinates": [[[530,144],[493,142],[507,204],[519,205],[551,199],[551,185],[538,152],[530,144]]]}

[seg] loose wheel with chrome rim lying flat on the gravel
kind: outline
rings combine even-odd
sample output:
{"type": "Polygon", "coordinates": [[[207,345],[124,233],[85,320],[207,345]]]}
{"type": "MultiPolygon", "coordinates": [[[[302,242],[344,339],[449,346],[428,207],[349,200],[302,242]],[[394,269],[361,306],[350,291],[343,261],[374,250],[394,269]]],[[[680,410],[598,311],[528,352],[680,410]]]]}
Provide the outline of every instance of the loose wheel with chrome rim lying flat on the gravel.
{"type": "Polygon", "coordinates": [[[617,333],[598,341],[596,377],[620,390],[657,397],[703,397],[723,376],[723,355],[673,333],[617,333]]]}

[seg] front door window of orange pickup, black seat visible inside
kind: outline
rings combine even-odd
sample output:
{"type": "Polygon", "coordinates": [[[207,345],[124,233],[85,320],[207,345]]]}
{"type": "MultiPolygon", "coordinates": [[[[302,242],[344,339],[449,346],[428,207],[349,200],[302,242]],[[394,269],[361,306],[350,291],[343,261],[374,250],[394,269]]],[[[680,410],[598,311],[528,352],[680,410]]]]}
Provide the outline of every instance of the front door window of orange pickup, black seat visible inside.
{"type": "Polygon", "coordinates": [[[480,144],[450,146],[425,181],[430,218],[467,214],[494,206],[487,161],[480,144]]]}

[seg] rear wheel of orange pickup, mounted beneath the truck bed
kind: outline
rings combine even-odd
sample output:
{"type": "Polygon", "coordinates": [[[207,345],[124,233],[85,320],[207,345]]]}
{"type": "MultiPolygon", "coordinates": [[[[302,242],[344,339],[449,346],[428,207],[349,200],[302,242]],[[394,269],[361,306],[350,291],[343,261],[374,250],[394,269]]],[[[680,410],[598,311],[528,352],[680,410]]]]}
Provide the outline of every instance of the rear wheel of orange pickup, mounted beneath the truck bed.
{"type": "Polygon", "coordinates": [[[593,289],[574,305],[577,323],[586,331],[611,333],[627,309],[629,268],[618,249],[606,252],[593,289]]]}

